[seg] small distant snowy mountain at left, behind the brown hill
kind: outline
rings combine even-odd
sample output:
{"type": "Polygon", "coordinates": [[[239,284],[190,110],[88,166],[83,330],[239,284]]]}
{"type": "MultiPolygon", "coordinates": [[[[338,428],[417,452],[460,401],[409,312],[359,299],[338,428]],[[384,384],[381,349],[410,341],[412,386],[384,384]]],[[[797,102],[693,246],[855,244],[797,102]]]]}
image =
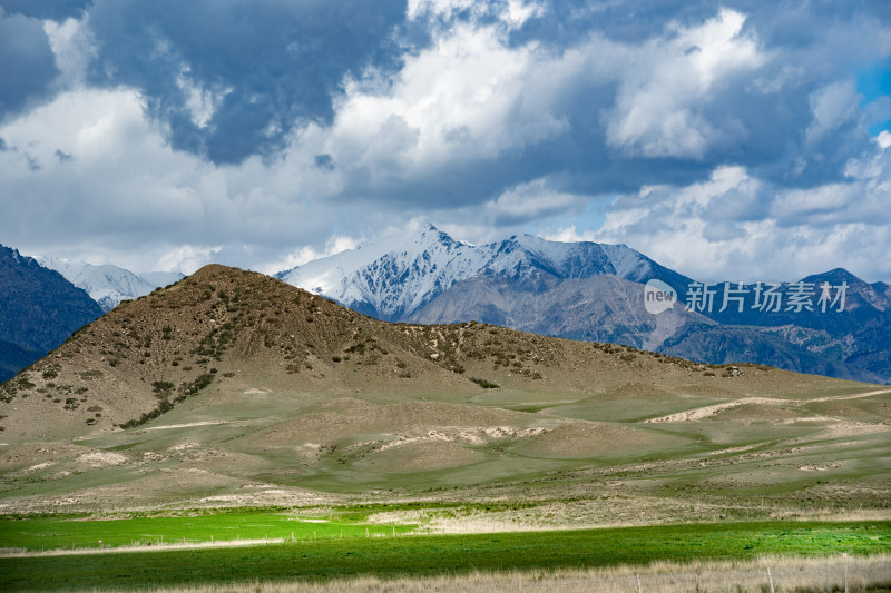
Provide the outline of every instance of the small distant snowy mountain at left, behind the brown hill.
{"type": "Polygon", "coordinates": [[[99,304],[104,313],[118,306],[121,300],[145,296],[159,286],[182,279],[177,273],[149,273],[150,280],[117,266],[94,266],[59,257],[38,257],[45,268],[53,269],[65,278],[87,291],[99,304]]]}

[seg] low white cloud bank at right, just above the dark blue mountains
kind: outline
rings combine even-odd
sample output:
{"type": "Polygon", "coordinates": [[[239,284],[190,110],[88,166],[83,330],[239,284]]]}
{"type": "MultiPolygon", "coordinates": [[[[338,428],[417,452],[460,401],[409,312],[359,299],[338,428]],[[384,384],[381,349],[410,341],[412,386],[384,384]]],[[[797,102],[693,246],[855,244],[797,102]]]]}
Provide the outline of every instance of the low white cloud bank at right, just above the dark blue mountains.
{"type": "Polygon", "coordinates": [[[743,168],[718,168],[702,184],[623,197],[603,227],[585,237],[625,243],[702,279],[793,280],[844,267],[887,280],[891,263],[875,254],[891,250],[891,167],[872,159],[884,155],[866,159],[869,166],[851,166],[868,177],[810,189],[777,188],[743,168]],[[746,208],[734,208],[752,199],[766,199],[768,210],[746,218],[746,208]]]}

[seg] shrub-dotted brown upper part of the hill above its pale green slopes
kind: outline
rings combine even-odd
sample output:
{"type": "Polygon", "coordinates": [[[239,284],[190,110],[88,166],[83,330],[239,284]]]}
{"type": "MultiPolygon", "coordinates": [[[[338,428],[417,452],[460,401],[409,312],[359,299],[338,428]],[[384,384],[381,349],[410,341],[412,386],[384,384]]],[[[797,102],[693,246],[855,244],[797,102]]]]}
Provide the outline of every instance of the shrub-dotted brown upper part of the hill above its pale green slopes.
{"type": "Polygon", "coordinates": [[[789,374],[751,367],[737,375],[486,324],[380,322],[262,274],[212,265],[77,332],[0,386],[0,413],[10,428],[4,438],[40,437],[50,427],[76,437],[139,426],[207,393],[229,393],[241,405],[275,393],[293,407],[359,393],[459,402],[496,387],[590,393],[639,377],[764,389],[789,374]]]}

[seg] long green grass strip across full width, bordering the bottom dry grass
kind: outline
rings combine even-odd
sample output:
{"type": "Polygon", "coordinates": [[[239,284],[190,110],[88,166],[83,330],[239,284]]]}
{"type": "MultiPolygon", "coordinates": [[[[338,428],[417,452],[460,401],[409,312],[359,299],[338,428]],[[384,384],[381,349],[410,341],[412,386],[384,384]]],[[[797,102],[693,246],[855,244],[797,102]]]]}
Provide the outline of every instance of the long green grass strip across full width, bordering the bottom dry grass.
{"type": "Polygon", "coordinates": [[[730,523],[479,535],[319,540],[252,547],[0,559],[2,590],[72,590],[329,580],[754,559],[871,554],[891,522],[730,523]]]}

